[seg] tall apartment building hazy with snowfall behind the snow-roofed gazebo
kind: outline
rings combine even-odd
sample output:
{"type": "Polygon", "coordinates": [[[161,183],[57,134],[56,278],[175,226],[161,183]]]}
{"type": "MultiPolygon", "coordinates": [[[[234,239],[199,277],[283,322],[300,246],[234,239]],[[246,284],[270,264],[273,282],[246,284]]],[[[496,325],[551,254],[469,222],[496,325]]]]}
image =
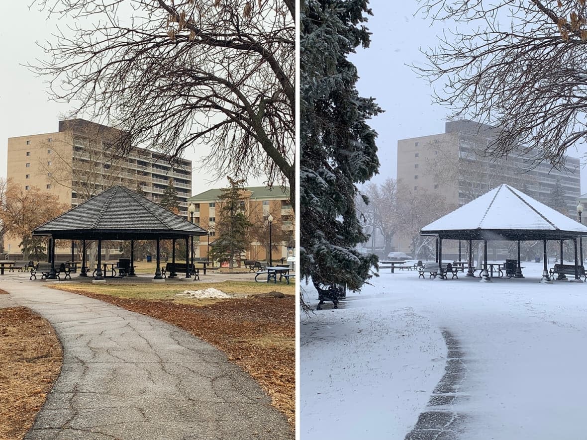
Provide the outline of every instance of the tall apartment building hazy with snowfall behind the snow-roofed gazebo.
{"type": "MultiPolygon", "coordinates": [[[[575,215],[576,199],[581,194],[579,159],[566,156],[560,170],[546,163],[528,170],[530,161],[522,153],[502,158],[478,154],[496,131],[474,121],[450,121],[444,133],[397,141],[398,184],[410,191],[441,195],[448,206],[456,208],[503,183],[548,204],[559,181],[568,214],[575,215]]],[[[405,240],[400,239],[397,247],[402,248],[398,251],[409,251],[405,240]]]]}

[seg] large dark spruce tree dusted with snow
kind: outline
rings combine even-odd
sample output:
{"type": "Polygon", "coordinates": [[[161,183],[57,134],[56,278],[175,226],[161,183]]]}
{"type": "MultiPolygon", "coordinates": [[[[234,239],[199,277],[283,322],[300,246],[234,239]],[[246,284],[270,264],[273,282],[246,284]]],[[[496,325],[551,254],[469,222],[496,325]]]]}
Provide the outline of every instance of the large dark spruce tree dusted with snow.
{"type": "Polygon", "coordinates": [[[358,290],[375,255],[355,245],[367,240],[355,209],[356,184],[379,168],[366,120],[381,110],[360,97],[356,67],[347,56],[369,45],[362,25],[367,1],[304,0],[301,11],[300,254],[301,275],[315,283],[358,290]]]}

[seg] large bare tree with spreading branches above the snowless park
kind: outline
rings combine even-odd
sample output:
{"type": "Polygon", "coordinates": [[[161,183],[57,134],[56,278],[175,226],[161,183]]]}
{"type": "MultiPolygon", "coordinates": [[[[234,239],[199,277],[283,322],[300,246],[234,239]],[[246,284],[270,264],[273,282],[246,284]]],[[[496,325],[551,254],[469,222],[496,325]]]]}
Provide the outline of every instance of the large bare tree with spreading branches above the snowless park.
{"type": "Polygon", "coordinates": [[[33,66],[72,116],[170,158],[211,148],[217,177],[287,182],[295,200],[291,0],[36,0],[70,27],[33,66]]]}

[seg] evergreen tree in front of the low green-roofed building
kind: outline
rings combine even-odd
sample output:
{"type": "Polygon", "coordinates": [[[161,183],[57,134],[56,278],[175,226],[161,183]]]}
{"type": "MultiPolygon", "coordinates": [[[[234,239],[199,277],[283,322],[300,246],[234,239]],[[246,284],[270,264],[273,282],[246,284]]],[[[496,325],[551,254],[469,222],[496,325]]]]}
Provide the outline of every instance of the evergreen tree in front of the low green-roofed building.
{"type": "Polygon", "coordinates": [[[222,188],[216,202],[217,221],[215,231],[218,236],[210,245],[210,258],[222,262],[228,261],[230,268],[234,261],[248,247],[247,229],[250,225],[245,216],[242,191],[244,180],[228,177],[230,187],[222,188]]]}

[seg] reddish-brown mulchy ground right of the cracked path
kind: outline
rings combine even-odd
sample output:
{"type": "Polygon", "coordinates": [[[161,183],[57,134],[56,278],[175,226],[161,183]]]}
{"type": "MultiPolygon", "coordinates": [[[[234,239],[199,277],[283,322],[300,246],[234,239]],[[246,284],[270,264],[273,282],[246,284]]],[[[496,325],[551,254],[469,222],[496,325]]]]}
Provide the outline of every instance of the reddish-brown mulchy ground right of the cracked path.
{"type": "Polygon", "coordinates": [[[295,427],[295,296],[186,304],[67,289],[174,324],[224,351],[271,396],[295,427]]]}

